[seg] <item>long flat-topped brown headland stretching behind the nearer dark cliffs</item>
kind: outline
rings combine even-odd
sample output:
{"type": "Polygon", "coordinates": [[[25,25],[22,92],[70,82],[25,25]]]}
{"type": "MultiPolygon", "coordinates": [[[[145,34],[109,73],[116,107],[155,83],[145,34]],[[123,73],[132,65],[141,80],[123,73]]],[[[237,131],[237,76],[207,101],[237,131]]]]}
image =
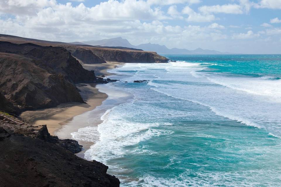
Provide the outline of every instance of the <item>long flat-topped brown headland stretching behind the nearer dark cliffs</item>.
{"type": "Polygon", "coordinates": [[[80,45],[76,43],[29,39],[5,34],[0,34],[0,41],[9,41],[16,44],[32,43],[41,46],[60,46],[70,51],[72,56],[85,64],[105,63],[105,61],[124,63],[167,63],[169,60],[168,58],[158,55],[156,52],[122,46],[107,47],[80,45]]]}

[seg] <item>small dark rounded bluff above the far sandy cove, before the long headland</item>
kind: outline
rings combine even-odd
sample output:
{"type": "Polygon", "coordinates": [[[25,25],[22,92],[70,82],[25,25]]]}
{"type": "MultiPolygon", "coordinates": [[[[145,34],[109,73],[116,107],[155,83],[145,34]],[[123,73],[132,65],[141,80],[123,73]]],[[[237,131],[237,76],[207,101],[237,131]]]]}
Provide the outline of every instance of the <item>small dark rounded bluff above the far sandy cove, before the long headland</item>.
{"type": "Polygon", "coordinates": [[[100,64],[106,63],[104,59],[98,57],[91,50],[87,49],[76,49],[75,51],[71,51],[71,54],[81,60],[85,64],[100,64]]]}

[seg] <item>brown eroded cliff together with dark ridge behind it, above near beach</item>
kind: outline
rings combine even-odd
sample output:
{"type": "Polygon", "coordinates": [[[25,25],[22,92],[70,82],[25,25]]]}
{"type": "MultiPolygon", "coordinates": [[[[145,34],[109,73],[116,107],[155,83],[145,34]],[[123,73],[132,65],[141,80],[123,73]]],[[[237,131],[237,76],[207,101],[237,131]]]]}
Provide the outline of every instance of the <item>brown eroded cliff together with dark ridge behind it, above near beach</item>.
{"type": "Polygon", "coordinates": [[[0,52],[0,92],[21,111],[82,103],[74,83],[96,81],[62,47],[0,42],[0,52]]]}

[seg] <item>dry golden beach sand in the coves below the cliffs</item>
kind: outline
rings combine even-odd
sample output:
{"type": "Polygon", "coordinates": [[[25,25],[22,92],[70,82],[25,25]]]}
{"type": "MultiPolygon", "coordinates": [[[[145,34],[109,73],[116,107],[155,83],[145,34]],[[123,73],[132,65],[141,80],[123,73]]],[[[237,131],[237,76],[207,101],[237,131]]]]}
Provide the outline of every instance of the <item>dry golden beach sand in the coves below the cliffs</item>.
{"type": "MultiPolygon", "coordinates": [[[[107,62],[103,64],[84,64],[87,70],[94,70],[96,76],[111,75],[107,72],[118,65],[124,63],[107,62]]],[[[72,120],[73,117],[93,110],[107,98],[107,94],[98,91],[96,84],[86,84],[87,86],[78,87],[81,96],[86,103],[63,103],[54,108],[47,108],[35,111],[25,111],[20,117],[25,122],[33,125],[46,124],[51,135],[55,135],[55,131],[72,120]]],[[[79,125],[79,124],[77,124],[79,125]]]]}

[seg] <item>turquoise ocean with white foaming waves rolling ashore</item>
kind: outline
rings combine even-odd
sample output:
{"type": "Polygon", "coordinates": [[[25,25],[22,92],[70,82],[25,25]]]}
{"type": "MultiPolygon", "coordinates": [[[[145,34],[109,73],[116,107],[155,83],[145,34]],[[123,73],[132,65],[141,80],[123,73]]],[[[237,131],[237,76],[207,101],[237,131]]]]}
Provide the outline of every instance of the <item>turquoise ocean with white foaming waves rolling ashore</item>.
{"type": "Polygon", "coordinates": [[[85,159],[121,186],[280,186],[281,55],[165,56],[109,70],[120,97],[72,133],[85,159]]]}

